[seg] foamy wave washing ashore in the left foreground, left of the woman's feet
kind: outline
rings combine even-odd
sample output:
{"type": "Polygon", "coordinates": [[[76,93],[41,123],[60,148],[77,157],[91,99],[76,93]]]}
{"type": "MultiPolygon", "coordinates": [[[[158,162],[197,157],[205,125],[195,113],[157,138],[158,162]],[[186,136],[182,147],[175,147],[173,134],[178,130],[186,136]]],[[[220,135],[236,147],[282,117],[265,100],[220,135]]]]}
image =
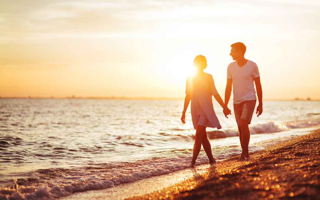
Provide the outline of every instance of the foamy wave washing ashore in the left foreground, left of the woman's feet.
{"type": "MultiPolygon", "coordinates": [[[[38,179],[15,179],[14,187],[0,188],[0,199],[48,200],[68,196],[75,192],[110,188],[121,183],[182,170],[188,167],[191,159],[190,154],[176,158],[153,158],[131,163],[95,164],[78,169],[36,170],[30,172],[29,175],[38,177],[38,179]]],[[[196,165],[205,162],[208,162],[207,157],[199,155],[196,165]]]]}

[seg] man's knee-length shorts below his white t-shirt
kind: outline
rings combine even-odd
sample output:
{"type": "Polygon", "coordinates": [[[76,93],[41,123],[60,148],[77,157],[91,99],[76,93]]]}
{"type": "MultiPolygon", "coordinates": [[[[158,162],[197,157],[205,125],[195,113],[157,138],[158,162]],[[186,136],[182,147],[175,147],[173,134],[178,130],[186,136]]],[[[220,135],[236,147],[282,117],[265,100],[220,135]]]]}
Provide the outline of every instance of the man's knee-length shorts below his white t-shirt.
{"type": "Polygon", "coordinates": [[[235,112],[237,125],[240,126],[240,119],[251,123],[254,108],[256,107],[257,100],[246,100],[241,103],[234,103],[233,109],[235,112]]]}

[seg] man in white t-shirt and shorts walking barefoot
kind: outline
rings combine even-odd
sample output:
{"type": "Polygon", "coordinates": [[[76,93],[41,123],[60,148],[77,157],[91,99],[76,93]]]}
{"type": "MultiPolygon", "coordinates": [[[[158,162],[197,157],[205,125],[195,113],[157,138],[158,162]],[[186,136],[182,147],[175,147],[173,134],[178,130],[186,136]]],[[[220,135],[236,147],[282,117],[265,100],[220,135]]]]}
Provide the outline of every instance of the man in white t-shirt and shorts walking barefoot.
{"type": "Polygon", "coordinates": [[[246,46],[237,42],[231,45],[230,56],[234,62],[230,63],[227,70],[227,86],[225,91],[225,107],[223,113],[228,115],[228,102],[230,100],[233,86],[233,108],[236,117],[236,123],[239,129],[239,138],[242,148],[240,161],[249,158],[249,140],[253,111],[256,105],[256,91],[253,82],[256,85],[259,104],[257,107],[257,116],[262,113],[262,88],[260,83],[259,69],[256,63],[244,58],[246,46]]]}

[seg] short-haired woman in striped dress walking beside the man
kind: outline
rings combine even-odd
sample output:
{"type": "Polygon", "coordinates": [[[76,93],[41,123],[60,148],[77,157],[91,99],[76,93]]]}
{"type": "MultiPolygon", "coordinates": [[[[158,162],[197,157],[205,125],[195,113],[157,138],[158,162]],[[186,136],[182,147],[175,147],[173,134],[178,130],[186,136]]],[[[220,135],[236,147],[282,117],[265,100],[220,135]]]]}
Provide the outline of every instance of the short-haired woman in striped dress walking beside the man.
{"type": "MultiPolygon", "coordinates": [[[[211,74],[204,73],[207,67],[207,60],[203,55],[198,55],[193,60],[196,67],[196,74],[187,78],[186,97],[182,111],[181,121],[185,124],[186,110],[191,100],[191,117],[194,129],[196,129],[195,144],[193,146],[193,156],[190,163],[191,167],[196,164],[196,159],[199,155],[201,144],[205,153],[209,158],[210,163],[215,163],[211,152],[211,145],[207,138],[206,127],[221,128],[219,120],[214,112],[212,105],[212,95],[224,108],[223,100],[216,90],[211,74]]],[[[228,109],[231,114],[231,110],[228,109]]]]}

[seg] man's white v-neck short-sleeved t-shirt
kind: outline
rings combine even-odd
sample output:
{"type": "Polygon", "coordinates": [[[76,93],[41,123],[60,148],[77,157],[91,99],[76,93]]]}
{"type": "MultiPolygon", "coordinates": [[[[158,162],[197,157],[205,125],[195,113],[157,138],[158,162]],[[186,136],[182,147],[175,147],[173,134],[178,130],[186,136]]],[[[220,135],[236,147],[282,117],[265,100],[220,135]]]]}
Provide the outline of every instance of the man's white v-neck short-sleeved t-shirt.
{"type": "Polygon", "coordinates": [[[258,66],[251,60],[248,60],[248,62],[242,67],[239,67],[236,61],[229,64],[227,69],[227,78],[232,79],[233,103],[241,103],[242,101],[257,99],[253,85],[253,78],[259,76],[258,66]]]}

